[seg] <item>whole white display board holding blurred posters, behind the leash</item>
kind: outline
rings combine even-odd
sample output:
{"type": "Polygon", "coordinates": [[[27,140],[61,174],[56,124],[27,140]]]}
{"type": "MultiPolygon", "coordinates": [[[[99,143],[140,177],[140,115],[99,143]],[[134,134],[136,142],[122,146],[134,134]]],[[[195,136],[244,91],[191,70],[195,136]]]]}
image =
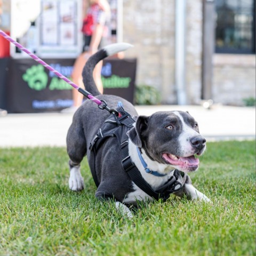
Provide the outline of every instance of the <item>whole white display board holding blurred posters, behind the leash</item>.
{"type": "MultiPolygon", "coordinates": [[[[76,58],[81,20],[82,0],[12,0],[11,37],[40,58],[76,58]]],[[[15,45],[11,56],[29,58],[15,45]]]]}

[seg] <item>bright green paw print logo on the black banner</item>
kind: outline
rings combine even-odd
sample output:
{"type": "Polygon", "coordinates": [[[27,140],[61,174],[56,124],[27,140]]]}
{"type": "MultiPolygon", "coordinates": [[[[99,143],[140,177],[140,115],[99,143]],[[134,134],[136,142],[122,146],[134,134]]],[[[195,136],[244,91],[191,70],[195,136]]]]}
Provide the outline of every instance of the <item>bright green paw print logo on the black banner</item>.
{"type": "Polygon", "coordinates": [[[28,68],[22,78],[31,89],[36,91],[45,89],[48,82],[47,73],[45,73],[42,65],[33,65],[31,68],[28,68]]]}

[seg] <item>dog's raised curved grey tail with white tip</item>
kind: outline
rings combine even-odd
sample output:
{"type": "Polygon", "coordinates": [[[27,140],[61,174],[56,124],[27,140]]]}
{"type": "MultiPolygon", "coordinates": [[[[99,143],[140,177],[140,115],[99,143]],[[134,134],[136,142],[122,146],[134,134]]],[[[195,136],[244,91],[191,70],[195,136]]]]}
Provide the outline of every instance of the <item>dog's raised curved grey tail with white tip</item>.
{"type": "Polygon", "coordinates": [[[110,44],[103,47],[97,53],[93,54],[86,62],[84,69],[83,69],[83,83],[85,86],[85,90],[90,92],[93,96],[99,95],[100,92],[95,85],[93,79],[93,69],[97,65],[97,63],[108,56],[114,55],[118,52],[126,51],[132,47],[131,44],[127,43],[117,43],[117,44],[110,44]]]}

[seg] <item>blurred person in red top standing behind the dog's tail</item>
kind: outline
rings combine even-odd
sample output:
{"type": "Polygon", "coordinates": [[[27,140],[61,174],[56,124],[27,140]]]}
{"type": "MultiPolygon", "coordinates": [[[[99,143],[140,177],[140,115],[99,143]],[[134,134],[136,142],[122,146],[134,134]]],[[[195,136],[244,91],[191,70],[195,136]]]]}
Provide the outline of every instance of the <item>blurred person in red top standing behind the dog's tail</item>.
{"type": "MultiPolygon", "coordinates": [[[[110,21],[110,6],[107,0],[90,0],[90,6],[83,20],[82,33],[84,37],[83,53],[75,61],[71,74],[73,82],[79,87],[85,88],[83,84],[82,71],[84,65],[92,54],[102,47],[102,39],[107,36],[107,23],[110,21]]],[[[102,61],[98,63],[93,71],[93,77],[98,90],[103,93],[101,81],[102,61]]],[[[86,88],[85,88],[86,90],[86,88]]],[[[83,94],[73,89],[73,106],[63,109],[62,113],[73,113],[83,102],[83,94]]]]}

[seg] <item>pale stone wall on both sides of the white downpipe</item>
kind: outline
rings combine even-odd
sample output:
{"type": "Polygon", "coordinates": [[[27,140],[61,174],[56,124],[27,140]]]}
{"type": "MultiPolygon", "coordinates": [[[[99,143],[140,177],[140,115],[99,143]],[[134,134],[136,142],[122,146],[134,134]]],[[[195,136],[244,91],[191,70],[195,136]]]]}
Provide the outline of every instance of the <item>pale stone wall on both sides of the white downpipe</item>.
{"type": "MultiPolygon", "coordinates": [[[[123,0],[124,42],[135,47],[126,57],[138,58],[137,84],[161,91],[163,103],[175,94],[175,0],[123,0]]],[[[186,89],[188,103],[201,97],[202,0],[187,1],[186,89]]]]}

